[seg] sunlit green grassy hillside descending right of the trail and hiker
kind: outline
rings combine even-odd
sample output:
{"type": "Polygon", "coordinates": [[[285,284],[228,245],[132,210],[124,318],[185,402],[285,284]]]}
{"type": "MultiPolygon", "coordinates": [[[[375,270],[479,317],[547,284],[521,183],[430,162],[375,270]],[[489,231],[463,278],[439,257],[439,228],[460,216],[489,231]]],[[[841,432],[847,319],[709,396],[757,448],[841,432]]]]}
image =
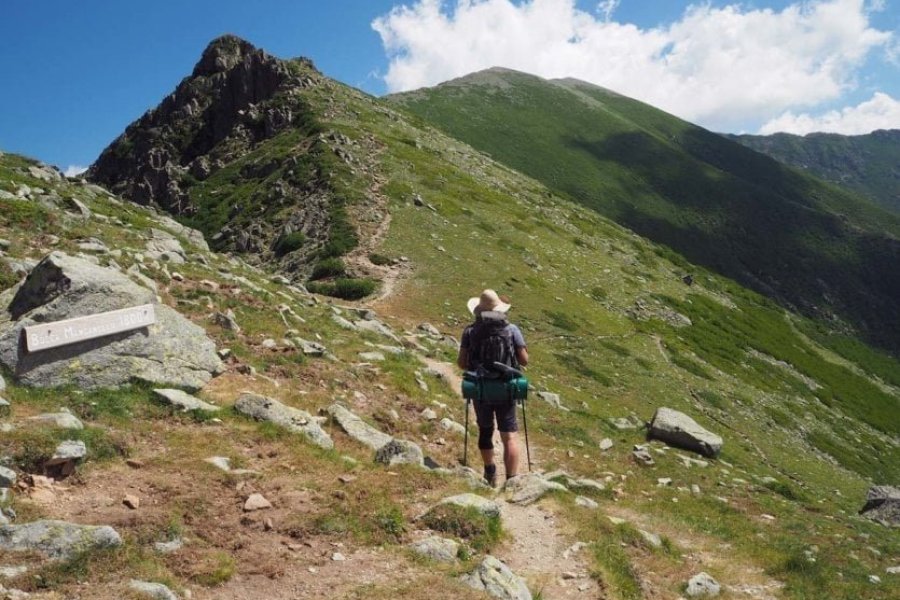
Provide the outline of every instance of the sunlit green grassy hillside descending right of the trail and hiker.
{"type": "MultiPolygon", "coordinates": [[[[408,257],[415,274],[379,310],[458,333],[469,295],[494,286],[513,298],[533,359],[529,376],[571,409],[530,405],[542,468],[624,476],[617,506],[734,544],[737,560],[787,582],[786,597],[889,597],[864,579],[873,567],[848,560],[840,542],[815,567],[807,568],[804,551],[830,545],[844,527],[869,532],[885,550],[900,543],[895,532],[853,516],[869,481],[900,475],[896,360],[848,340],[829,349],[822,342],[832,338],[812,321],[354,90],[312,94],[323,109],[340,99],[328,126],[384,144],[392,222],[381,252],[408,257]],[[417,206],[417,195],[434,210],[417,206]],[[687,271],[696,275],[692,286],[681,281],[687,271]],[[679,326],[676,313],[693,325],[679,326]],[[668,454],[658,467],[637,469],[630,450],[642,433],[619,431],[609,419],[649,419],[661,405],[720,431],[726,463],[689,470],[668,454]],[[597,444],[607,436],[616,446],[603,454],[597,444]],[[704,498],[660,493],[656,479],[665,476],[682,490],[696,483],[704,498]],[[775,514],[774,525],[761,525],[762,514],[775,514]]],[[[613,542],[597,552],[597,576],[612,597],[641,597],[646,551],[604,520],[567,510],[582,538],[624,536],[625,551],[613,542]]],[[[680,564],[653,560],[661,560],[654,568],[668,574],[663,579],[680,564]]]]}

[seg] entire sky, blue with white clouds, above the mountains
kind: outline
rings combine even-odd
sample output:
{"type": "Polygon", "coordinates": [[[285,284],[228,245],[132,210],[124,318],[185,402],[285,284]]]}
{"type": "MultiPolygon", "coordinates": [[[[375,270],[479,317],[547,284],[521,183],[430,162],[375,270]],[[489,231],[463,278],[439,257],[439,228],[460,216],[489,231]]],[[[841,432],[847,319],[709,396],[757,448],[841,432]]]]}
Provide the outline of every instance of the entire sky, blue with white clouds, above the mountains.
{"type": "Polygon", "coordinates": [[[90,164],[222,33],[310,57],[373,94],[500,64],[576,76],[722,131],[900,128],[900,0],[798,2],[10,2],[0,149],[90,164]]]}

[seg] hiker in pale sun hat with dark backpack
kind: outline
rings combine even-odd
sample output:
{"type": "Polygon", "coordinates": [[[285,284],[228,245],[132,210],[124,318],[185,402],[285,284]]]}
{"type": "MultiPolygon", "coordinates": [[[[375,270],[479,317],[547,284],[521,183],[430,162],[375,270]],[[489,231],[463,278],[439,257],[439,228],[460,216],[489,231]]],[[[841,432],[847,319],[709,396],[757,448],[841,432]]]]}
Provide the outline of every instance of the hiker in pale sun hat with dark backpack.
{"type": "MultiPolygon", "coordinates": [[[[475,322],[466,327],[459,346],[457,365],[463,371],[491,376],[496,372],[494,361],[518,369],[528,364],[528,349],[518,327],[509,323],[509,302],[504,302],[494,290],[484,290],[480,297],[470,298],[467,307],[475,322]]],[[[497,375],[499,376],[499,375],[497,375]]],[[[519,468],[519,441],[516,432],[516,403],[514,400],[488,406],[475,402],[478,422],[478,449],[484,461],[484,478],[491,487],[497,485],[497,465],[494,464],[494,419],[503,441],[503,464],[506,478],[512,479],[519,468]]]]}

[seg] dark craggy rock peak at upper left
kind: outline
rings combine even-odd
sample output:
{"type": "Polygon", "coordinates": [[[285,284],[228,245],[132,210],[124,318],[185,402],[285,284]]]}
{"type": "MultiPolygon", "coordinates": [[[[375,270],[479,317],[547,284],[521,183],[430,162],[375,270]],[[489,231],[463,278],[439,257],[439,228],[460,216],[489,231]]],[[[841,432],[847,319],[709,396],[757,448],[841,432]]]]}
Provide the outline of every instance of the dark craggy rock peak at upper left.
{"type": "MultiPolygon", "coordinates": [[[[320,134],[313,125],[314,111],[300,92],[321,80],[307,59],[281,60],[235,36],[217,38],[193,72],[159,106],[129,125],[86,177],[138,204],[208,217],[215,206],[195,193],[200,182],[280,134],[297,135],[296,151],[269,153],[265,161],[241,164],[224,176],[228,183],[252,188],[250,198],[222,194],[215,199],[229,209],[249,200],[278,206],[277,212],[262,215],[247,209],[201,221],[217,250],[244,253],[259,264],[280,262],[285,272],[302,269],[308,274],[312,257],[329,241],[332,221],[334,191],[319,157],[329,149],[349,157],[345,147],[354,144],[345,136],[320,134]]],[[[190,233],[176,231],[193,241],[190,233]]],[[[177,248],[169,246],[165,240],[151,240],[148,251],[164,260],[182,260],[177,248]]]]}

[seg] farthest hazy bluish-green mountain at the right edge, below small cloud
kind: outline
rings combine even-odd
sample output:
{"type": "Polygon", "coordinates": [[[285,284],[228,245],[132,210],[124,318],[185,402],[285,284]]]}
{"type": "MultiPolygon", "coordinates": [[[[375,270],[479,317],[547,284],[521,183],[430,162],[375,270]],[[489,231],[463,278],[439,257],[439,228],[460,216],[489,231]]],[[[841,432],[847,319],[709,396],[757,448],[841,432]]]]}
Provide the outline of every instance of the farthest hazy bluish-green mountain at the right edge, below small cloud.
{"type": "Polygon", "coordinates": [[[900,213],[900,129],[866,135],[776,133],[727,137],[826,181],[856,190],[884,208],[900,213]]]}

